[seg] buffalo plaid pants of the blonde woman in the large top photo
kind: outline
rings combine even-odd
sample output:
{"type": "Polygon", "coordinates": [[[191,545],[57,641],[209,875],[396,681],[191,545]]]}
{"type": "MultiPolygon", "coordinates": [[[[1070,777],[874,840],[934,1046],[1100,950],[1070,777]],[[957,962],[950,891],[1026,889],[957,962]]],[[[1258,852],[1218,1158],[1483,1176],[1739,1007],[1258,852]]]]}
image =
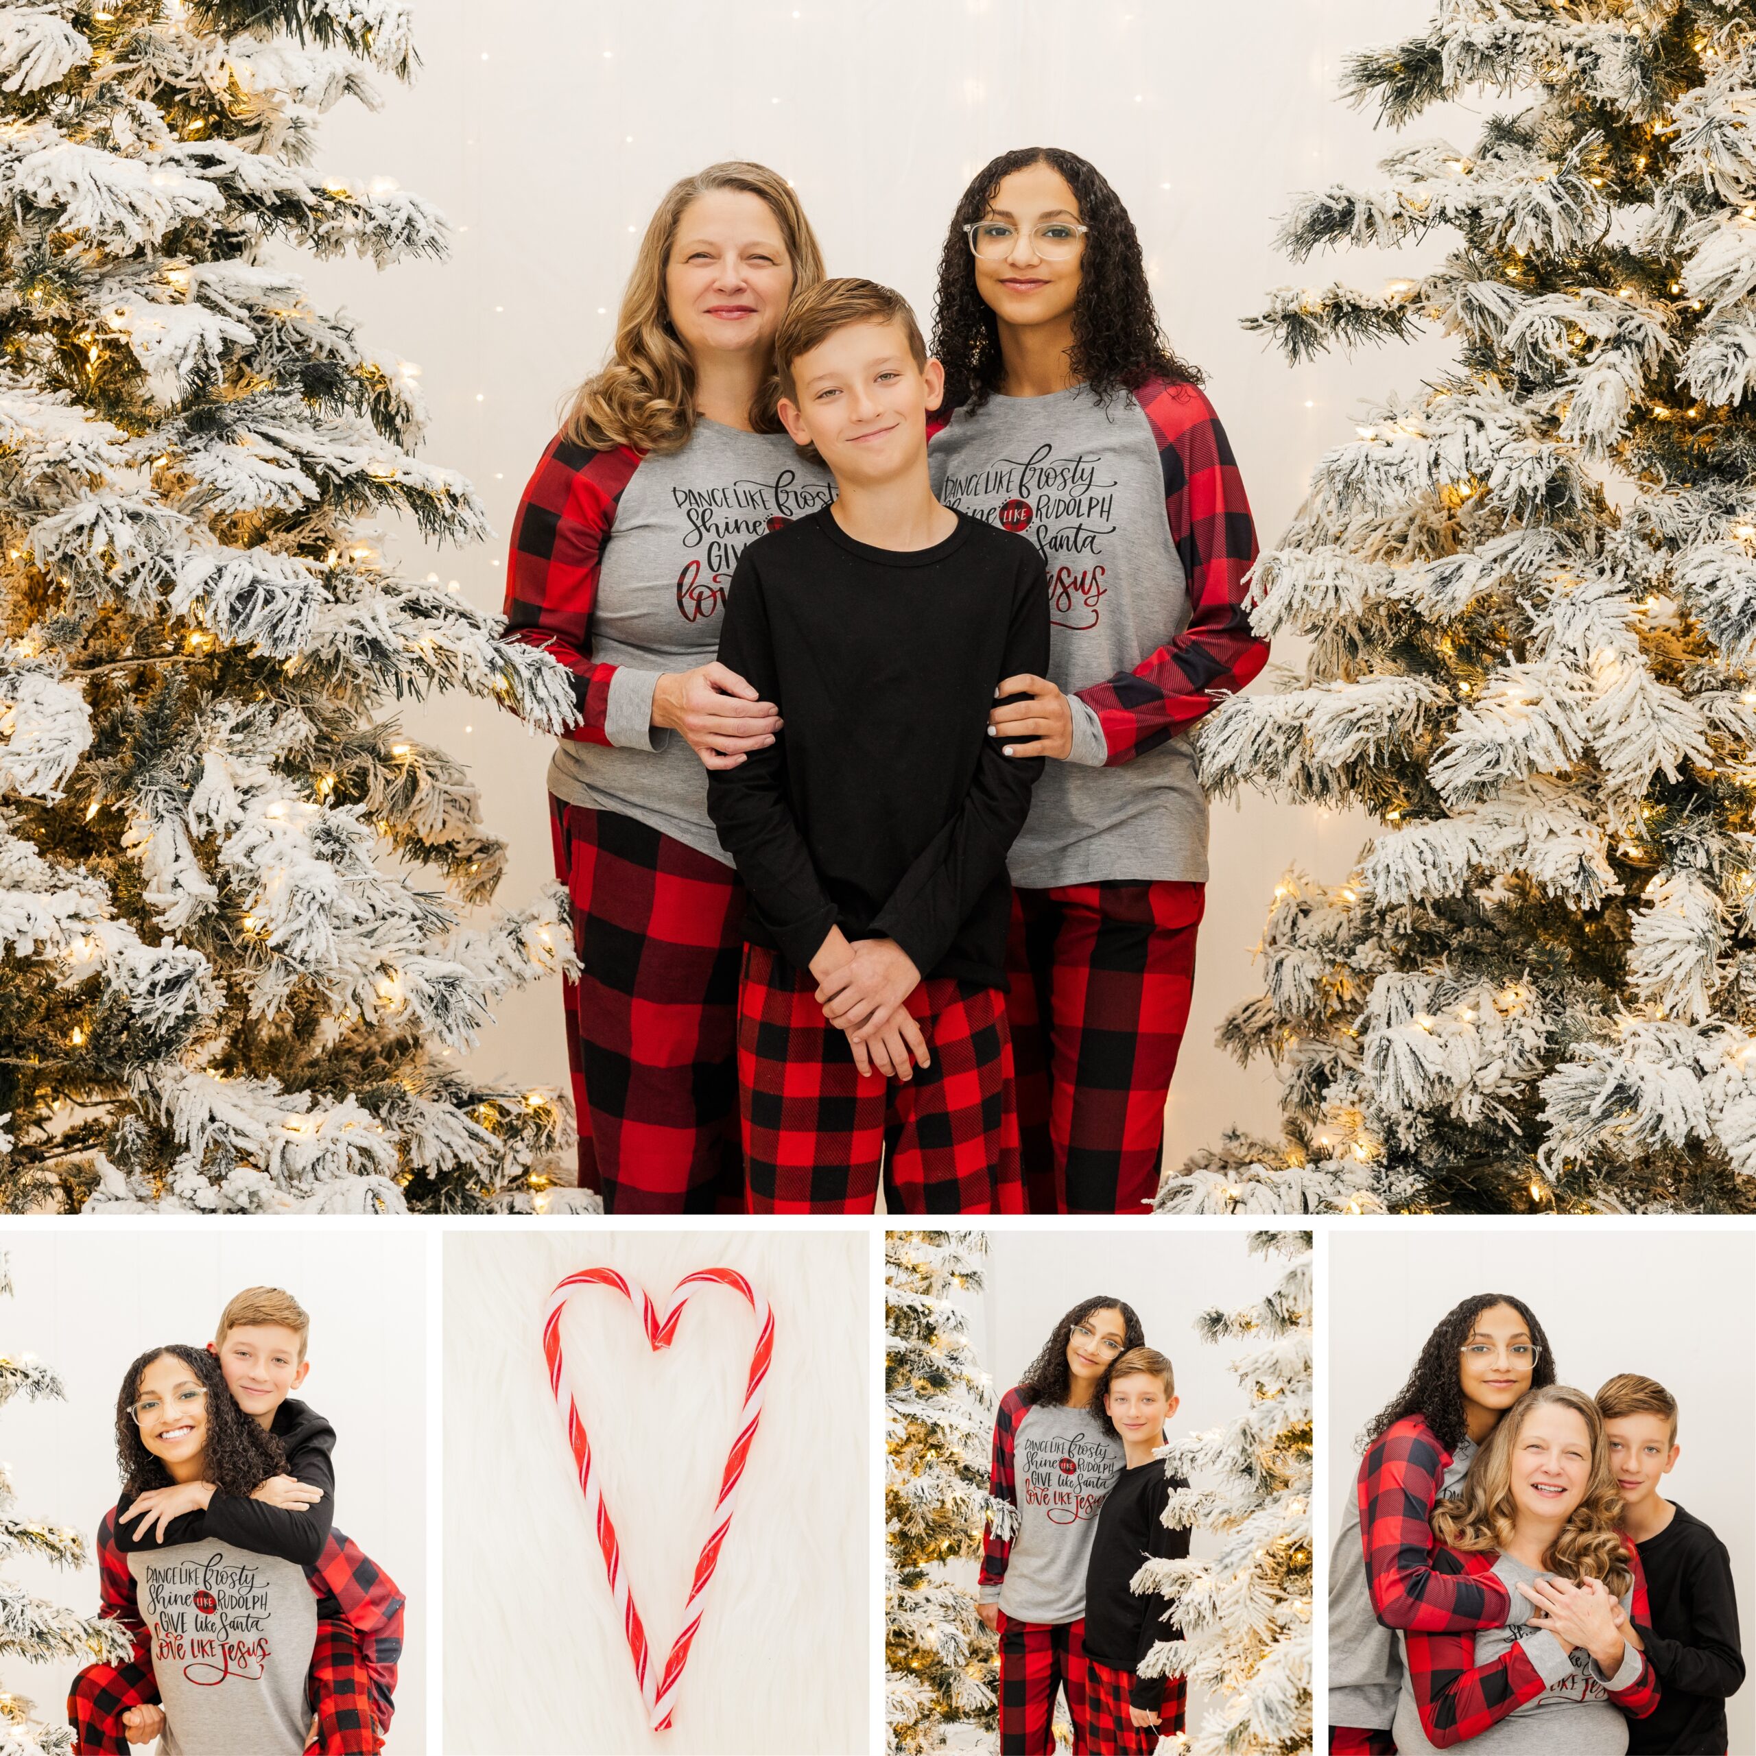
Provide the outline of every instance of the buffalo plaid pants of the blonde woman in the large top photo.
{"type": "Polygon", "coordinates": [[[730,866],[616,811],[550,799],[583,969],[565,983],[579,1182],[609,1213],[741,1213],[730,866]]]}

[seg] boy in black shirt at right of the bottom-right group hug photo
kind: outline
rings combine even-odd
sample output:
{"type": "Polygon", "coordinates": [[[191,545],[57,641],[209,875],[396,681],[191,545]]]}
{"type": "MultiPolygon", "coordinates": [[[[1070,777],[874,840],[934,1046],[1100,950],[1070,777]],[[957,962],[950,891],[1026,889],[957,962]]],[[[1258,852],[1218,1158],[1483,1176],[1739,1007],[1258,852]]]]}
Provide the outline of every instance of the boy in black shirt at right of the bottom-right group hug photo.
{"type": "Polygon", "coordinates": [[[1677,1400],[1656,1378],[1623,1371],[1598,1391],[1623,1529],[1640,1551],[1652,1626],[1640,1640],[1659,1680],[1658,1707],[1628,1723],[1630,1756],[1724,1756],[1726,1696],[1744,1686],[1738,1605],[1726,1545],[1659,1493],[1677,1466],[1677,1400]]]}

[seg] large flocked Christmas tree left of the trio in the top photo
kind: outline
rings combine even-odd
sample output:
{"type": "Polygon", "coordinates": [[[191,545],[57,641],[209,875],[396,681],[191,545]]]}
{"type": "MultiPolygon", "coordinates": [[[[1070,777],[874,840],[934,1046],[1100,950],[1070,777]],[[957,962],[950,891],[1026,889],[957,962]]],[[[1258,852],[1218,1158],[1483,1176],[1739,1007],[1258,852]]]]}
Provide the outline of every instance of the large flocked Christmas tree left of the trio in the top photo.
{"type": "Polygon", "coordinates": [[[362,520],[465,543],[481,506],[411,455],[413,367],[281,265],[443,253],[311,165],[411,65],[400,0],[0,5],[9,1206],[471,1206],[565,1134],[451,1061],[571,957],[564,901],[460,925],[504,850],[395,702],[557,730],[571,687],[385,558],[362,520]]]}

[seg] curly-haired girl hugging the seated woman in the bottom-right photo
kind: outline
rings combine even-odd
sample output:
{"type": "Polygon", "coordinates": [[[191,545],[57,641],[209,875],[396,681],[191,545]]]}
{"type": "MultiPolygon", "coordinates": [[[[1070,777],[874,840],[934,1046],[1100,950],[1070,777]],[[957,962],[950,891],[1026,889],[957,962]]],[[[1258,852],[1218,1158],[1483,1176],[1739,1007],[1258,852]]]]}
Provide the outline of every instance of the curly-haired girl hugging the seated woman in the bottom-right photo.
{"type": "Polygon", "coordinates": [[[1501,1415],[1547,1384],[1554,1359],[1535,1313],[1510,1294],[1479,1292],[1440,1319],[1408,1382],[1366,1428],[1329,1565],[1331,1756],[1394,1756],[1396,1630],[1463,1633],[1512,1616],[1496,1579],[1433,1570],[1428,1519],[1501,1415]]]}

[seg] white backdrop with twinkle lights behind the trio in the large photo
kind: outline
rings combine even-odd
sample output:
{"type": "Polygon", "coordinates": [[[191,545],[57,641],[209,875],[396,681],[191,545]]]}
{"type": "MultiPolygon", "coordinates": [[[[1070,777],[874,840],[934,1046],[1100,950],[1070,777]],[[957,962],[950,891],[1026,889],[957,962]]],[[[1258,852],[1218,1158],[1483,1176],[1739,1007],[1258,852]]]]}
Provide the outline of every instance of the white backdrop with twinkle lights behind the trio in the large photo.
{"type": "MultiPolygon", "coordinates": [[[[1289,371],[1238,328],[1268,288],[1336,272],[1377,284],[1405,258],[1298,269],[1273,251],[1291,191],[1363,176],[1393,137],[1335,98],[1342,56],[1407,33],[1428,0],[416,0],[425,70],[386,109],[334,112],[327,169],[390,176],[458,227],[446,265],[378,276],[311,269],[378,346],[414,360],[434,409],[427,455],[485,493],[492,544],[420,571],[500,608],[518,492],[555,430],[560,397],[594,367],[637,232],[662,190],[718,158],[792,177],[832,274],[890,281],[931,314],[932,265],[964,183],[994,153],[1066,146],[1120,190],[1141,230],[1159,311],[1208,369],[1264,544],[1287,523],[1317,455],[1352,437],[1363,399],[1414,388],[1436,342],[1289,371]]],[[[1440,132],[1422,121],[1419,135],[1440,132]]],[[[1457,118],[1459,144],[1477,119],[1457,118]]],[[[1436,253],[1436,251],[1435,251],[1436,253]]],[[[406,548],[406,553],[409,550],[406,548]]],[[[1280,653],[1278,657],[1287,657],[1280,653]]],[[[472,764],[492,825],[513,845],[502,897],[551,873],[548,743],[486,708],[407,723],[472,764]]],[[[1273,1082],[1213,1047],[1291,862],[1336,882],[1363,822],[1250,799],[1213,818],[1212,883],[1168,1161],[1226,1126],[1271,1129],[1273,1082]]],[[[502,1003],[483,1071],[565,1083],[553,985],[502,1003]]]]}

